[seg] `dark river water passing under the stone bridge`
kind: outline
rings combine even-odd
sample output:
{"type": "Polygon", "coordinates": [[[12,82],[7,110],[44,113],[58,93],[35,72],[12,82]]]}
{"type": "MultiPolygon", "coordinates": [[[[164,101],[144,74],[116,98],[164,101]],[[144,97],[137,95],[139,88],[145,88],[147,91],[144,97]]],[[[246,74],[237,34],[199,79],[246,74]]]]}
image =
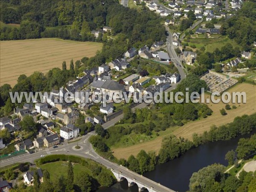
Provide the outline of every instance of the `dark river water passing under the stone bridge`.
{"type": "MultiPolygon", "coordinates": [[[[256,131],[252,134],[254,133],[256,131]]],[[[250,135],[242,137],[250,137],[250,135]]],[[[185,192],[189,190],[189,179],[193,172],[213,163],[227,166],[225,154],[231,149],[236,149],[240,138],[206,143],[193,148],[175,160],[157,165],[154,171],[147,172],[144,176],[175,191],[185,192]]],[[[124,180],[111,187],[99,189],[97,192],[138,192],[138,187],[137,185],[128,187],[127,180],[124,180]]]]}

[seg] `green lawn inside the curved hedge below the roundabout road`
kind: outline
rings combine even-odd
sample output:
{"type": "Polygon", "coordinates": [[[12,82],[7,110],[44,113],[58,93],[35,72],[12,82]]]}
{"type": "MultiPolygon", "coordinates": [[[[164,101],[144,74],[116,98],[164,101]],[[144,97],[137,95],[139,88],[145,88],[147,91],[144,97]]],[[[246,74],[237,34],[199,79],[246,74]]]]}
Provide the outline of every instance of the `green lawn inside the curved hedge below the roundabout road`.
{"type": "MultiPolygon", "coordinates": [[[[64,177],[67,177],[67,169],[68,169],[68,163],[66,161],[58,161],[53,163],[46,163],[39,166],[41,169],[47,169],[47,171],[50,174],[50,180],[54,181],[57,179],[60,175],[64,175],[64,177]]],[[[81,166],[78,163],[74,163],[74,180],[76,180],[76,175],[79,172],[85,171],[89,175],[91,175],[90,169],[86,168],[85,166],[81,166]]]]}

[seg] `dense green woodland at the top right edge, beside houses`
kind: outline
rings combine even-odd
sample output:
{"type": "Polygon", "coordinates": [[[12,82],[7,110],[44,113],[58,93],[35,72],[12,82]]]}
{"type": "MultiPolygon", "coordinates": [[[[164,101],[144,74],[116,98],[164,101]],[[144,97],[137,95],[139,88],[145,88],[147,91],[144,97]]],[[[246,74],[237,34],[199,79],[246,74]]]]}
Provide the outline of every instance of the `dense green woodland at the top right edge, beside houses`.
{"type": "Polygon", "coordinates": [[[220,29],[222,35],[234,39],[245,51],[252,49],[253,41],[256,41],[255,9],[255,1],[244,2],[237,14],[225,20],[220,29]]]}

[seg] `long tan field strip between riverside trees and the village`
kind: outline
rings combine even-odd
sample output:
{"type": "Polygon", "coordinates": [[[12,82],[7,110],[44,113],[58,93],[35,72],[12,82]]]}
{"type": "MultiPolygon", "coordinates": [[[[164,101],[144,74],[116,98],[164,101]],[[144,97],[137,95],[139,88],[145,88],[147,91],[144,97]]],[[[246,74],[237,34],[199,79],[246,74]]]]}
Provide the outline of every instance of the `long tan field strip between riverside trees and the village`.
{"type": "MultiPolygon", "coordinates": [[[[236,109],[227,110],[227,115],[222,116],[220,113],[220,109],[224,108],[226,104],[224,103],[218,103],[218,104],[212,104],[209,103],[209,108],[212,109],[213,113],[211,116],[208,116],[206,119],[200,119],[196,120],[194,122],[189,122],[182,127],[174,127],[169,128],[166,131],[160,131],[160,136],[157,137],[154,140],[150,140],[147,142],[135,144],[129,147],[125,148],[113,148],[113,155],[117,158],[125,158],[128,159],[128,157],[133,154],[137,155],[138,152],[141,149],[144,149],[145,151],[159,151],[162,143],[163,137],[165,137],[168,134],[174,134],[177,137],[184,137],[188,139],[192,139],[193,133],[203,133],[204,131],[209,131],[210,127],[212,125],[224,125],[229,122],[232,122],[233,119],[236,116],[242,116],[244,114],[252,114],[256,112],[256,86],[252,84],[237,84],[236,86],[230,88],[228,90],[230,93],[233,91],[245,91],[247,93],[247,103],[246,104],[230,104],[236,105],[236,109]],[[240,105],[240,106],[239,106],[240,105]]],[[[207,95],[205,95],[205,99],[207,99],[207,95]]]]}

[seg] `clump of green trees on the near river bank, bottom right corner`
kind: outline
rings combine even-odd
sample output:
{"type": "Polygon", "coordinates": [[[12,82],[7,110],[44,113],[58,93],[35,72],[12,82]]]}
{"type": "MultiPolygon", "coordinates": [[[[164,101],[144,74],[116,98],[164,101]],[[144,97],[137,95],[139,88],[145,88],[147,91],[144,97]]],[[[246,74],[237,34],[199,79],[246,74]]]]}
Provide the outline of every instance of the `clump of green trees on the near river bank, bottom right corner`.
{"type": "Polygon", "coordinates": [[[213,164],[193,173],[189,182],[189,192],[254,192],[256,172],[242,170],[237,178],[225,174],[225,167],[213,164]]]}

